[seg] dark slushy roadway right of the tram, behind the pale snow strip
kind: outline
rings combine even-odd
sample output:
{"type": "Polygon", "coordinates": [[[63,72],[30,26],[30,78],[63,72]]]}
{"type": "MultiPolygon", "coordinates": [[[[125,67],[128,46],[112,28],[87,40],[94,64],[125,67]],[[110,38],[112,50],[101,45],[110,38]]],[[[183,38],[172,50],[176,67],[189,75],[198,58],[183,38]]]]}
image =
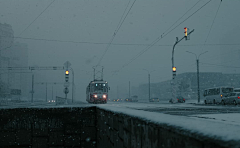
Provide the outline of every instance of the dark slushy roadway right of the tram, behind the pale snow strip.
{"type": "Polygon", "coordinates": [[[197,103],[174,103],[162,102],[108,102],[109,105],[118,104],[128,108],[144,110],[149,112],[159,112],[170,115],[189,116],[197,114],[224,114],[240,113],[240,105],[220,105],[220,104],[197,104],[197,103]],[[131,105],[132,104],[132,105],[131,105]],[[133,104],[145,104],[141,107],[133,104]]]}

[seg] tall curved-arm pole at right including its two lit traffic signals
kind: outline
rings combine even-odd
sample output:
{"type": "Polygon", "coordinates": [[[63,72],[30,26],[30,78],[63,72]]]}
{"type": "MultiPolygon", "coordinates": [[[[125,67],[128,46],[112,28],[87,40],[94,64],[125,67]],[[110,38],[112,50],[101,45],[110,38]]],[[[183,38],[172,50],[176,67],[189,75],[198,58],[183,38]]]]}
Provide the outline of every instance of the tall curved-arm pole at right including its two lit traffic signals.
{"type": "Polygon", "coordinates": [[[184,34],[185,34],[185,36],[183,36],[180,40],[178,40],[178,37],[176,37],[176,41],[175,41],[175,44],[173,45],[173,50],[172,50],[172,82],[171,82],[171,85],[172,85],[172,98],[171,98],[171,100],[170,100],[170,102],[171,103],[173,103],[173,101],[175,100],[175,94],[176,94],[176,89],[175,89],[175,81],[174,81],[174,79],[175,79],[175,77],[176,77],[176,67],[174,66],[174,50],[175,50],[175,46],[179,43],[179,42],[181,42],[183,39],[186,39],[186,40],[189,40],[190,39],[190,37],[188,36],[188,35],[190,35],[193,31],[194,31],[194,29],[192,30],[192,31],[190,31],[189,33],[187,33],[187,30],[188,30],[188,28],[184,28],[184,30],[185,30],[185,32],[184,32],[184,34]]]}

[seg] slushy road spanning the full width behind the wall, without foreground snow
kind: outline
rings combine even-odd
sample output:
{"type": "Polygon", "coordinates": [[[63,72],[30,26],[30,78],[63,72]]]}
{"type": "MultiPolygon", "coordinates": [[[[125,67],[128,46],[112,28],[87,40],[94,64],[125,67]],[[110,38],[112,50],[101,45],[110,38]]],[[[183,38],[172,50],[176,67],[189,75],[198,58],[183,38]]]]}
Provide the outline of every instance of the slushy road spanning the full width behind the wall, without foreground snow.
{"type": "Polygon", "coordinates": [[[144,110],[149,112],[159,112],[170,115],[189,116],[197,114],[224,114],[224,113],[240,113],[240,105],[220,105],[220,104],[203,104],[187,101],[186,103],[169,103],[167,100],[160,102],[113,102],[107,104],[89,104],[87,102],[74,102],[74,104],[56,105],[55,103],[46,102],[19,102],[0,105],[0,108],[23,108],[23,107],[77,107],[77,106],[116,106],[123,108],[131,108],[135,110],[144,110]]]}

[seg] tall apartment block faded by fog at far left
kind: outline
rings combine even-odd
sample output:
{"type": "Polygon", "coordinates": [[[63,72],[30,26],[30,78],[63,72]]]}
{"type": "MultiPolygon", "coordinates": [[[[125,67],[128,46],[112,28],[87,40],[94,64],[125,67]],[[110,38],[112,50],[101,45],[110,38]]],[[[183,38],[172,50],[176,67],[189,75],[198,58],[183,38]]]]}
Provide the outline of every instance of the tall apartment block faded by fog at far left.
{"type": "MultiPolygon", "coordinates": [[[[14,43],[9,49],[2,51],[2,67],[28,67],[28,46],[25,43],[14,43]]],[[[20,89],[22,96],[29,95],[31,75],[29,71],[4,70],[2,82],[9,89],[20,89]]]]}

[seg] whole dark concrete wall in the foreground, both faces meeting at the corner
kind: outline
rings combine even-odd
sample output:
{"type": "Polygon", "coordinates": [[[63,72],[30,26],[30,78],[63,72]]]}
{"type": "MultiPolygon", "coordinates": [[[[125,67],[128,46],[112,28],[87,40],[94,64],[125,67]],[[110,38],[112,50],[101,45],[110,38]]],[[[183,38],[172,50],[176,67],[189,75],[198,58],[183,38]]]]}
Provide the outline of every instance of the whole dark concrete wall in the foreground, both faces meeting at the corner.
{"type": "Polygon", "coordinates": [[[0,148],[239,147],[96,107],[1,109],[0,117],[0,148]]]}

